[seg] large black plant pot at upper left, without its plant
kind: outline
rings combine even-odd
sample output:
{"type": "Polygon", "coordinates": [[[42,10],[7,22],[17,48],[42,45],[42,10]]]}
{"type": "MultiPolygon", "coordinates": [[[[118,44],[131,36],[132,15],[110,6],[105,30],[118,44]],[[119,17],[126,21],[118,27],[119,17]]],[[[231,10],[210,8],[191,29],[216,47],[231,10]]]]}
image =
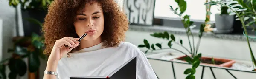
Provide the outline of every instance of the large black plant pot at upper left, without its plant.
{"type": "Polygon", "coordinates": [[[47,10],[36,10],[36,9],[21,10],[24,36],[31,36],[33,32],[41,36],[42,35],[41,26],[28,21],[27,18],[33,18],[43,23],[44,17],[46,16],[46,14],[47,14],[47,10]]]}

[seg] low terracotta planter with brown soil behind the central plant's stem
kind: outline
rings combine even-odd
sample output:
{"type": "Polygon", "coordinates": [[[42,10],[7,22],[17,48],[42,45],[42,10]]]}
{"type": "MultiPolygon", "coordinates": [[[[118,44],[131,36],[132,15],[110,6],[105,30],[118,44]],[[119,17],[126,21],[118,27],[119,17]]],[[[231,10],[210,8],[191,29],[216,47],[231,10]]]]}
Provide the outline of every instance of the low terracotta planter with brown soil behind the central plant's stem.
{"type": "MultiPolygon", "coordinates": [[[[185,61],[186,56],[180,56],[176,59],[185,61]]],[[[214,58],[215,64],[212,64],[211,57],[201,57],[201,64],[204,65],[213,65],[213,66],[219,66],[219,67],[231,67],[236,61],[230,60],[230,59],[221,59],[221,58],[214,58]]]]}

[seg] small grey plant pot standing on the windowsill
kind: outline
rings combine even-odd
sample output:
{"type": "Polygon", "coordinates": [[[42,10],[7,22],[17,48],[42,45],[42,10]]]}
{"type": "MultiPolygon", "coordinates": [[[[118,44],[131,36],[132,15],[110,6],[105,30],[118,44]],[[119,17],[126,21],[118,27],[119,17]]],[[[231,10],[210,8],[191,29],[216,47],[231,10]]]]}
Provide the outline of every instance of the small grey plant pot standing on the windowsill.
{"type": "Polygon", "coordinates": [[[215,33],[231,33],[233,31],[234,15],[215,14],[215,33]]]}

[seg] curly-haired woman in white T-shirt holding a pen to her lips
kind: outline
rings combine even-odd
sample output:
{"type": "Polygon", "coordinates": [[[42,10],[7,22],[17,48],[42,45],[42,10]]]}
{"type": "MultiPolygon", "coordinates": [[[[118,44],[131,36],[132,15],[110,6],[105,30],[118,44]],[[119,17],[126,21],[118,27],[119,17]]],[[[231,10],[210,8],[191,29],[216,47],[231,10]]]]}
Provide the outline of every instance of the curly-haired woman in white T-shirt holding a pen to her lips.
{"type": "Polygon", "coordinates": [[[44,54],[49,56],[44,79],[108,76],[134,56],[137,79],[157,79],[143,52],[122,42],[129,23],[114,0],[55,0],[48,10],[43,27],[44,54]],[[87,36],[77,42],[84,33],[87,36]]]}

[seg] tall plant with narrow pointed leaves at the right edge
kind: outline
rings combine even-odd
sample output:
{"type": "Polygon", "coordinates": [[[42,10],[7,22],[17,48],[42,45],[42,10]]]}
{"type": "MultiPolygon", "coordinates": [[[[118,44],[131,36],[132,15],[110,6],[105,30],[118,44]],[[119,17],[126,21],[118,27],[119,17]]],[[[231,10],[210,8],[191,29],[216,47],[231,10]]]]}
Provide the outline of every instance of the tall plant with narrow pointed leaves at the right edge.
{"type": "Polygon", "coordinates": [[[256,59],[253,55],[253,51],[250,46],[247,31],[247,27],[250,26],[253,28],[252,31],[256,32],[256,28],[255,26],[253,26],[253,24],[256,24],[256,0],[247,0],[246,2],[244,2],[244,0],[219,0],[211,1],[205,4],[226,6],[232,11],[230,15],[236,15],[236,20],[241,21],[241,24],[244,28],[244,34],[246,36],[247,45],[250,50],[253,65],[256,66],[256,59]]]}

